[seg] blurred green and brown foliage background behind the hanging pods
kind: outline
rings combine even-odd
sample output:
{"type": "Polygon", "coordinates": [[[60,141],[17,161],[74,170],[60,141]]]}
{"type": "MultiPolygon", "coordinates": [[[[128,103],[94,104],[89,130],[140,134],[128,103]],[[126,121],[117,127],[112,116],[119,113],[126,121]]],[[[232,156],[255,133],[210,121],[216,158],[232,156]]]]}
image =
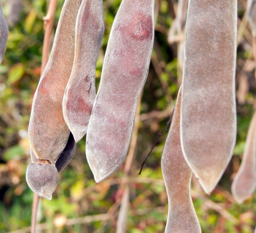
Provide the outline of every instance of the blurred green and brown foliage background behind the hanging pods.
{"type": "MultiPolygon", "coordinates": [[[[54,30],[64,0],[59,0],[54,30]]],[[[105,33],[96,71],[97,87],[110,29],[121,0],[104,0],[105,33]]],[[[41,70],[42,17],[49,0],[2,0],[9,25],[7,50],[0,64],[0,233],[29,232],[33,193],[25,180],[30,163],[27,128],[31,102],[41,70]]],[[[167,194],[161,172],[164,131],[141,175],[140,163],[172,112],[182,78],[183,21],[174,20],[177,1],[155,0],[155,42],[128,159],[105,181],[95,184],[85,156],[85,137],[59,175],[53,200],[42,199],[39,232],[116,232],[120,222],[129,233],[164,232],[167,194]],[[172,30],[170,28],[172,27],[172,30]]],[[[246,1],[238,0],[237,143],[234,156],[210,196],[196,179],[192,198],[203,233],[251,233],[256,225],[254,196],[238,205],[230,194],[238,171],[249,122],[255,108],[256,82],[252,35],[245,17],[246,1]]],[[[183,9],[185,15],[185,9],[183,9]]],[[[51,41],[53,40],[53,36],[51,41]]],[[[223,77],[225,78],[225,77],[223,77]]],[[[214,127],[214,125],[212,126],[214,127]]],[[[217,135],[218,136],[218,135],[217,135]]],[[[124,231],[125,232],[125,231],[124,231]]]]}

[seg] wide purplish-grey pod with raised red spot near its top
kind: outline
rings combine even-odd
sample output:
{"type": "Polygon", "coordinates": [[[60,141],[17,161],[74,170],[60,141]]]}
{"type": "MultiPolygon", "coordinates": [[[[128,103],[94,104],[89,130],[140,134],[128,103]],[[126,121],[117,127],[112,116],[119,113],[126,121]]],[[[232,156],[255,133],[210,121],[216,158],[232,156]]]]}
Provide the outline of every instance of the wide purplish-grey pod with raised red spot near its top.
{"type": "Polygon", "coordinates": [[[96,182],[123,162],[154,40],[154,0],[123,0],[110,32],[101,81],[86,137],[96,182]]]}

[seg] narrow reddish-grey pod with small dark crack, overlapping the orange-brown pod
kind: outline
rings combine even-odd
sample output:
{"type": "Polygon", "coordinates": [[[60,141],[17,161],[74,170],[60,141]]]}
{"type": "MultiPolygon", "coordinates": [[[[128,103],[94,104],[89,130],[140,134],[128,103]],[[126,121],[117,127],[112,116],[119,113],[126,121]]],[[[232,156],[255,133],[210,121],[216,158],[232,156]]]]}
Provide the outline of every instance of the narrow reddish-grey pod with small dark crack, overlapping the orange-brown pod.
{"type": "Polygon", "coordinates": [[[83,0],[76,19],[75,58],[63,97],[64,119],[79,141],[96,97],[95,69],[104,32],[102,0],[83,0]]]}

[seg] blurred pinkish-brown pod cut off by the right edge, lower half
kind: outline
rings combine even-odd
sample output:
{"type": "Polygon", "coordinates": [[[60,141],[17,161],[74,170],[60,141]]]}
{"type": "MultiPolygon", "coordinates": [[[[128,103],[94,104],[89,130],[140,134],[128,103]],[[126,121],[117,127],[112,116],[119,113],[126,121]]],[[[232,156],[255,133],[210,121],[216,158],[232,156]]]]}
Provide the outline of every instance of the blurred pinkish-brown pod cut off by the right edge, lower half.
{"type": "Polygon", "coordinates": [[[232,183],[232,194],[242,203],[253,194],[256,185],[256,112],[252,117],[246,137],[242,163],[232,183]]]}

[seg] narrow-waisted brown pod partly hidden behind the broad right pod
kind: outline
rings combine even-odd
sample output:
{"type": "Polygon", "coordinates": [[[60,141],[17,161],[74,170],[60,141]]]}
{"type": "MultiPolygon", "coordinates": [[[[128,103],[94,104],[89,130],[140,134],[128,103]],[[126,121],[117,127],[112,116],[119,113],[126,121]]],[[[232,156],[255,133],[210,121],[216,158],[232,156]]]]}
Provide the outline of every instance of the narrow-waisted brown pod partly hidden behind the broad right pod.
{"type": "Polygon", "coordinates": [[[192,171],[184,159],[180,143],[181,88],[172,124],[162,154],[162,172],[169,209],[165,232],[200,233],[201,228],[191,198],[192,171]]]}

